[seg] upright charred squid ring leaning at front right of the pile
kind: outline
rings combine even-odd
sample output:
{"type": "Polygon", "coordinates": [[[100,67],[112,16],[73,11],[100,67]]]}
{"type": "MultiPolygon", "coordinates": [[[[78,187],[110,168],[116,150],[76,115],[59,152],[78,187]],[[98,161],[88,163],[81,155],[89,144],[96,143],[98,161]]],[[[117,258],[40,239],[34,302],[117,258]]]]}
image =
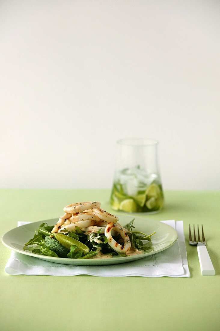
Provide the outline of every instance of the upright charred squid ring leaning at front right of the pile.
{"type": "Polygon", "coordinates": [[[126,233],[126,231],[119,225],[110,222],[105,228],[105,236],[108,239],[108,244],[115,250],[117,253],[127,253],[129,249],[131,248],[131,242],[130,239],[126,233]],[[124,245],[121,246],[118,244],[111,235],[111,231],[115,230],[116,232],[120,233],[122,239],[124,240],[124,245]]]}

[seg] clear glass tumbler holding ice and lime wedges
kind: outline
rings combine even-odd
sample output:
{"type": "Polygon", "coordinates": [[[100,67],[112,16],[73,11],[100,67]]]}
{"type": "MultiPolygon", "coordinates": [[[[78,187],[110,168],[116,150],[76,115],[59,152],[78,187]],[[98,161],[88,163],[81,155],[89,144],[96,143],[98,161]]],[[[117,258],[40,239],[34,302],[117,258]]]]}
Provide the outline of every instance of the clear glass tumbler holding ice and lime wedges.
{"type": "Polygon", "coordinates": [[[117,141],[110,205],[126,213],[158,213],[164,205],[158,141],[126,138],[117,141]]]}

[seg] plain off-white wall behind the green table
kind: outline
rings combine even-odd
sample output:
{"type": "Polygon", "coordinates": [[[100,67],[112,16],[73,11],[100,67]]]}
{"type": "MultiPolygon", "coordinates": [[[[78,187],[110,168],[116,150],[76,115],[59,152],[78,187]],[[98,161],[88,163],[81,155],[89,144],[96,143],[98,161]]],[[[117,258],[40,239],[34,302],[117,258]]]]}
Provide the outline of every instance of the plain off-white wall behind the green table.
{"type": "Polygon", "coordinates": [[[165,189],[219,189],[220,1],[0,1],[0,187],[111,187],[160,141],[165,189]]]}

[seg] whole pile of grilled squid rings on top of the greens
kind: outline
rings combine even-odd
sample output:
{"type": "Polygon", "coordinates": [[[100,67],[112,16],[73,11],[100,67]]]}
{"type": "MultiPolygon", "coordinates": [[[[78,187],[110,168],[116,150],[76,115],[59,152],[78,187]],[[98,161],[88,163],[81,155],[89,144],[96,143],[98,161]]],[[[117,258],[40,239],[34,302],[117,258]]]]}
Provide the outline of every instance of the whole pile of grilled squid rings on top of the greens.
{"type": "Polygon", "coordinates": [[[79,202],[64,208],[65,214],[61,216],[51,233],[60,233],[62,229],[73,231],[78,226],[86,234],[105,233],[108,244],[118,253],[127,253],[131,248],[129,236],[119,223],[118,218],[102,209],[100,202],[79,202]],[[120,245],[112,238],[112,230],[119,233],[124,240],[120,245]]]}

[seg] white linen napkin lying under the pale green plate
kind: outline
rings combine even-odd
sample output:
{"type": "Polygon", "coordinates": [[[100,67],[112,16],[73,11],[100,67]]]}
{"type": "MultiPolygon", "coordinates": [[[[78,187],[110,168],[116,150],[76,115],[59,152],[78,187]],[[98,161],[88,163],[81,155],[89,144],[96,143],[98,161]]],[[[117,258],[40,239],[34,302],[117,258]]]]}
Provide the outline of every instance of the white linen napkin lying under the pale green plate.
{"type": "MultiPolygon", "coordinates": [[[[183,221],[175,222],[175,220],[167,220],[162,222],[176,229],[178,233],[177,242],[163,252],[150,255],[140,260],[114,265],[66,265],[36,259],[12,251],[11,257],[6,264],[5,272],[10,275],[190,277],[183,221]]],[[[18,222],[18,226],[27,223],[28,222],[18,222]]]]}

